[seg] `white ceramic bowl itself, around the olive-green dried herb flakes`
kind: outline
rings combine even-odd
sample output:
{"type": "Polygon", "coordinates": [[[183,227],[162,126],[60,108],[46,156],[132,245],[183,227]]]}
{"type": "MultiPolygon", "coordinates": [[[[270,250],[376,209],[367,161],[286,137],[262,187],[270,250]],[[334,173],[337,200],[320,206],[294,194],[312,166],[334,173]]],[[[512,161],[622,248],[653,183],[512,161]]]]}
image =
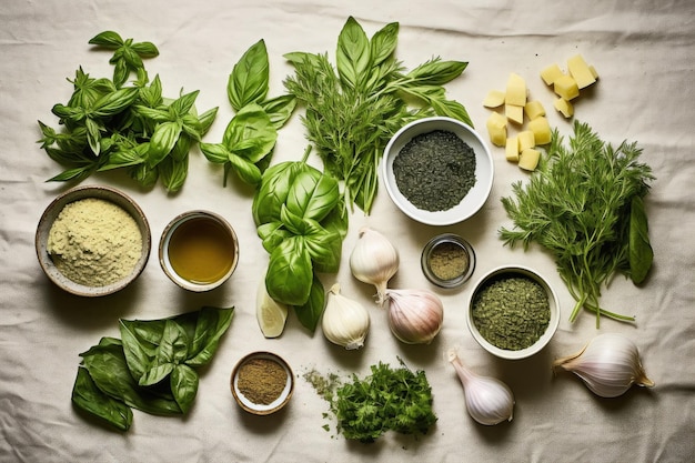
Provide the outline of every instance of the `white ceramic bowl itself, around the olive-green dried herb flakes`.
{"type": "Polygon", "coordinates": [[[498,356],[501,359],[506,359],[506,360],[526,359],[541,352],[543,348],[545,348],[547,343],[551,341],[551,339],[557,331],[557,325],[560,324],[560,303],[557,300],[557,294],[555,294],[555,291],[550,286],[550,284],[547,284],[546,280],[541,274],[523,265],[498,266],[487,272],[485,275],[483,275],[475,283],[475,286],[473,291],[471,292],[466,311],[467,311],[466,321],[469,323],[469,330],[471,331],[471,334],[473,335],[475,341],[477,341],[477,343],[491,354],[498,356]],[[494,280],[498,276],[514,276],[514,275],[526,276],[537,282],[545,290],[545,293],[547,294],[547,301],[548,301],[550,310],[551,310],[551,319],[545,330],[545,333],[543,333],[541,338],[538,338],[538,340],[534,344],[530,345],[526,349],[522,349],[518,351],[500,349],[496,345],[492,344],[485,338],[483,338],[480,331],[477,331],[477,328],[475,326],[475,322],[473,321],[473,301],[475,300],[475,296],[477,295],[477,293],[483,288],[485,288],[485,285],[491,280],[494,280]]]}

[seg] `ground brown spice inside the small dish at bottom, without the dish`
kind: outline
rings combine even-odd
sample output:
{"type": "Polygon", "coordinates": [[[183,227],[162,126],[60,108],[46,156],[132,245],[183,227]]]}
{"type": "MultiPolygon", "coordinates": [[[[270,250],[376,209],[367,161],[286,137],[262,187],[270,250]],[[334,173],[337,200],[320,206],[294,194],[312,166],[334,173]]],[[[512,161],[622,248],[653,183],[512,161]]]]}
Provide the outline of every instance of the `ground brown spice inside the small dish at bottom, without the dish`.
{"type": "Polygon", "coordinates": [[[259,405],[273,403],[286,384],[288,373],[270,359],[251,359],[239,369],[239,391],[259,405]]]}

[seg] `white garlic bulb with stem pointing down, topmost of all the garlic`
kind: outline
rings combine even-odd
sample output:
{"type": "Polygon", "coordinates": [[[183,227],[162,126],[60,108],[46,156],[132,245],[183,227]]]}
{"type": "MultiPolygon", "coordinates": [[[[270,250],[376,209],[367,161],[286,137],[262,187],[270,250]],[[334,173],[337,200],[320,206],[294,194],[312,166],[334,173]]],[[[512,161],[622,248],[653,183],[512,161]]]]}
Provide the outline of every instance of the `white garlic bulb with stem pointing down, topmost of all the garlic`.
{"type": "Polygon", "coordinates": [[[399,270],[399,252],[380,232],[363,227],[350,254],[350,270],[354,278],[376,288],[376,303],[384,303],[389,280],[399,270]]]}

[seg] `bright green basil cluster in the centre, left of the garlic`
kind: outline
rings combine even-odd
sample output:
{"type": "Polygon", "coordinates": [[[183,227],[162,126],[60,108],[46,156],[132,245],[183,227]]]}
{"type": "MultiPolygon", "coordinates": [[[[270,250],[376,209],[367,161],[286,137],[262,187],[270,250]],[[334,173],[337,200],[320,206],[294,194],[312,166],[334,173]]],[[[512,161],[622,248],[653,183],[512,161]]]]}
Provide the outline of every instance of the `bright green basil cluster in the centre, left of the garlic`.
{"type": "Polygon", "coordinates": [[[258,235],[270,254],[265,288],[275,301],[294,308],[313,332],[325,291],[318,273],[339,270],[348,214],[338,180],[302,161],[269,168],[253,198],[258,235]]]}

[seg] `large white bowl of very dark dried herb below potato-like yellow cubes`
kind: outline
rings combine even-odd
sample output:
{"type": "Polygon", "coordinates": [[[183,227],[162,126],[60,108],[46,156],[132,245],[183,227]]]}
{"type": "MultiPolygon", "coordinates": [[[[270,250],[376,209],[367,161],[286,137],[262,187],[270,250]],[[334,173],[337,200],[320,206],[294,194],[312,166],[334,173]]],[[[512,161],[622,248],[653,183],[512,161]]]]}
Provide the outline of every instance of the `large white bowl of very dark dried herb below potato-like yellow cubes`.
{"type": "Polygon", "coordinates": [[[470,125],[430,117],[401,128],[389,141],[382,178],[395,205],[429,225],[450,225],[487,201],[494,177],[490,148],[470,125]]]}

